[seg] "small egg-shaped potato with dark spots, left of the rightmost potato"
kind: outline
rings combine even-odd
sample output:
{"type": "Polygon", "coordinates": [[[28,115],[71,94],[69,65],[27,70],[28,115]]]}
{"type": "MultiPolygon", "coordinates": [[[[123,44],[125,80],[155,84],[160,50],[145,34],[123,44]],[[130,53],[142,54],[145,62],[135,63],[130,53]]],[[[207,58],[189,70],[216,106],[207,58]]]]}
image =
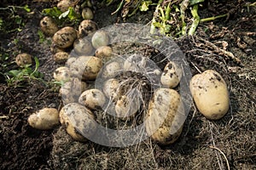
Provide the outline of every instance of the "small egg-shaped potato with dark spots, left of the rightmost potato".
{"type": "Polygon", "coordinates": [[[167,63],[162,75],[160,77],[160,81],[162,85],[167,88],[175,88],[179,83],[182,77],[182,70],[177,67],[177,65],[170,61],[167,63]]]}

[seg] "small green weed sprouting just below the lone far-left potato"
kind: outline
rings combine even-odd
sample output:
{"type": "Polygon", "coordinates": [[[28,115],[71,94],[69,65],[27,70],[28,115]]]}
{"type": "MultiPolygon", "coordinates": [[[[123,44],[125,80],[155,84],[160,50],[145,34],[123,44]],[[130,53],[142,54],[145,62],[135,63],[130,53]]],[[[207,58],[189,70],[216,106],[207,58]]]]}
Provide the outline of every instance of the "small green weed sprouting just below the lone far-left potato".
{"type": "MultiPolygon", "coordinates": [[[[25,65],[24,67],[18,70],[11,70],[4,73],[6,77],[6,81],[9,86],[22,86],[21,82],[30,82],[32,80],[38,80],[44,82],[42,79],[44,74],[38,71],[39,68],[39,60],[37,57],[35,59],[35,69],[33,70],[31,65],[25,65]]],[[[44,82],[46,84],[46,82],[44,82]]]]}

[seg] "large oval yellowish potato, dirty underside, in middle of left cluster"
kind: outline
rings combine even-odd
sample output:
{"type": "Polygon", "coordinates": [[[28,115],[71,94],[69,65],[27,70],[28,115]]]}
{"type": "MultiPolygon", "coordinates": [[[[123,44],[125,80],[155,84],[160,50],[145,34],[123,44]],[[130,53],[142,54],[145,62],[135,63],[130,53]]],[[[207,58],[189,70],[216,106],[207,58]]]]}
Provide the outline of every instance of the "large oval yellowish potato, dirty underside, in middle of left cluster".
{"type": "Polygon", "coordinates": [[[73,76],[84,80],[95,80],[102,68],[102,60],[94,56],[80,56],[71,65],[73,76]]]}

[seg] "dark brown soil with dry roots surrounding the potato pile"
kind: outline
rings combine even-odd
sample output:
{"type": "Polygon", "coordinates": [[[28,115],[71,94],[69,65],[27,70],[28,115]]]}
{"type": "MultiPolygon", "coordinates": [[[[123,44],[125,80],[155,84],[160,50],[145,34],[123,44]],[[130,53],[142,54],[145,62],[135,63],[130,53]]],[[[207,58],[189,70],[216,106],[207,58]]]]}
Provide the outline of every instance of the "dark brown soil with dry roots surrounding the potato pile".
{"type": "MultiPolygon", "coordinates": [[[[146,141],[138,146],[108,148],[92,142],[73,141],[59,126],[41,131],[30,127],[27,117],[44,107],[61,108],[58,88],[40,80],[26,79],[8,85],[3,73],[18,69],[15,55],[28,53],[39,59],[38,71],[44,81],[52,80],[58,64],[49,51],[50,38],[38,36],[41,11],[56,3],[50,1],[3,1],[0,17],[9,32],[0,32],[0,169],[255,169],[256,165],[256,9],[253,1],[210,1],[201,8],[201,18],[230,13],[224,20],[200,24],[195,37],[176,42],[183,50],[193,74],[206,69],[220,72],[230,89],[230,111],[219,121],[208,121],[192,106],[183,133],[175,144],[160,146],[146,141]],[[2,7],[16,8],[14,14],[2,7]],[[19,15],[24,26],[14,22],[19,15]],[[20,31],[12,31],[20,27],[20,31]],[[224,49],[235,55],[224,54],[224,49]]],[[[114,4],[96,10],[99,27],[122,22],[111,15],[114,4]]],[[[137,13],[126,22],[148,24],[153,11],[137,13]]],[[[119,49],[125,50],[125,49],[119,49]]],[[[133,50],[143,50],[136,46],[133,50]]],[[[34,64],[33,64],[34,65],[34,64]]],[[[34,67],[33,67],[34,68],[34,67]]]]}

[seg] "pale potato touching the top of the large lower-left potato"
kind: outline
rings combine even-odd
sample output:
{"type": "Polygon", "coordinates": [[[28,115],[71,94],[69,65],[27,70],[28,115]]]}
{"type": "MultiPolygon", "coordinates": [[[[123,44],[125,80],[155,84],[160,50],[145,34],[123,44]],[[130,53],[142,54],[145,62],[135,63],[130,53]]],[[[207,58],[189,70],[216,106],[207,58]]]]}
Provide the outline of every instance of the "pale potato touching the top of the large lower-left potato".
{"type": "Polygon", "coordinates": [[[87,88],[86,82],[81,82],[79,78],[73,77],[65,82],[60,89],[60,94],[64,104],[78,102],[79,96],[87,88]]]}

